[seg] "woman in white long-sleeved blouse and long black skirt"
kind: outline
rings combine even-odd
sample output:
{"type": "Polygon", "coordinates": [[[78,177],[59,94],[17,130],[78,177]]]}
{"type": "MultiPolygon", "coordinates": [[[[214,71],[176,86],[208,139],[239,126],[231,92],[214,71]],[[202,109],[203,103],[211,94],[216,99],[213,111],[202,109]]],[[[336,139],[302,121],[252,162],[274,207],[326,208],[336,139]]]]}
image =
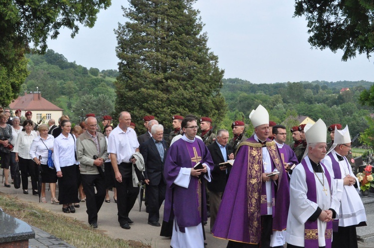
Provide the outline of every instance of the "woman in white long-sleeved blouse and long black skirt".
{"type": "Polygon", "coordinates": [[[61,122],[61,129],[62,132],[54,139],[53,145],[54,166],[58,177],[58,200],[64,213],[75,213],[73,203],[79,202],[75,138],[70,134],[69,120],[61,122]]]}

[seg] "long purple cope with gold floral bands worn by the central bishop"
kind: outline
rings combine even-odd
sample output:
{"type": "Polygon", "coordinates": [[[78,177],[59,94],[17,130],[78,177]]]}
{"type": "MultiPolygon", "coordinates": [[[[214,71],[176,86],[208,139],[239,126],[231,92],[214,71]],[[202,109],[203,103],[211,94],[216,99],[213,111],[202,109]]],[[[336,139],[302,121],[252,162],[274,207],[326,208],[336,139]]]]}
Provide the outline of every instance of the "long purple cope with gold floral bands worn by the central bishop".
{"type": "MultiPolygon", "coordinates": [[[[281,172],[272,196],[275,197],[272,228],[282,231],[287,226],[290,200],[287,173],[275,142],[267,139],[266,147],[271,162],[281,172]]],[[[212,230],[214,237],[248,244],[260,242],[260,195],[265,187],[262,167],[262,145],[251,136],[238,148],[212,230]]]]}

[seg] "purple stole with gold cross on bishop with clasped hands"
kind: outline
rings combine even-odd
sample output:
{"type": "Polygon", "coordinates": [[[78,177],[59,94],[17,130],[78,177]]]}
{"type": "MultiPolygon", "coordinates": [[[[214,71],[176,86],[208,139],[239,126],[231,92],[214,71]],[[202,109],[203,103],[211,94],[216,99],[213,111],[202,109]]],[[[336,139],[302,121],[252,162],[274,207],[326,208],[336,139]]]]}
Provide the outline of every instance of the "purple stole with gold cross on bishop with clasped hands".
{"type": "MultiPolygon", "coordinates": [[[[306,182],[308,185],[308,192],[307,197],[310,201],[317,203],[317,186],[316,186],[316,179],[314,177],[314,173],[311,172],[308,168],[307,162],[305,159],[301,161],[301,164],[304,167],[305,175],[306,175],[306,182]]],[[[331,191],[331,177],[329,171],[326,169],[325,165],[321,163],[321,166],[325,170],[326,179],[329,183],[329,189],[331,191]]],[[[318,220],[317,221],[306,221],[304,224],[305,228],[305,236],[304,236],[304,247],[305,248],[316,248],[318,247],[318,220]]],[[[326,248],[331,248],[332,236],[333,236],[333,223],[327,222],[326,223],[326,232],[325,232],[325,242],[326,248]]]]}

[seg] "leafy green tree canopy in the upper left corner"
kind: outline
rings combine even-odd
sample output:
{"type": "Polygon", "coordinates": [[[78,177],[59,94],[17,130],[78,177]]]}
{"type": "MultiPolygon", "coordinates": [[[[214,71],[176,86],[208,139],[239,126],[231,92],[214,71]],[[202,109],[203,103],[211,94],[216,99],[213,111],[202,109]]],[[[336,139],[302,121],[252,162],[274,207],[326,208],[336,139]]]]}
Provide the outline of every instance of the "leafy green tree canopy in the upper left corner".
{"type": "Polygon", "coordinates": [[[27,76],[25,53],[44,53],[48,36],[56,39],[61,27],[70,29],[72,37],[79,23],[92,27],[99,10],[110,4],[111,0],[0,0],[0,105],[16,98],[27,76]]]}

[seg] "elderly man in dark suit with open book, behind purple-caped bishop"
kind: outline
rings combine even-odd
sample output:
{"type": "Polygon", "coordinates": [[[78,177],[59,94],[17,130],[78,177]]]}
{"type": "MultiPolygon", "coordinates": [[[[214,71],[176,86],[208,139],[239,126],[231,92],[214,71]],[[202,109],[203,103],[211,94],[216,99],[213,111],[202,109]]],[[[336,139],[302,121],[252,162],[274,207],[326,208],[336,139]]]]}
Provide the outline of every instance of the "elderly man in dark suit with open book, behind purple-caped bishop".
{"type": "Polygon", "coordinates": [[[234,159],[232,153],[232,146],[227,144],[228,131],[219,129],[217,131],[216,140],[208,145],[208,150],[213,159],[214,169],[211,172],[212,180],[208,182],[209,201],[210,201],[210,232],[213,228],[215,217],[221,204],[222,194],[226,187],[227,167],[219,165],[227,162],[227,160],[234,159]]]}

